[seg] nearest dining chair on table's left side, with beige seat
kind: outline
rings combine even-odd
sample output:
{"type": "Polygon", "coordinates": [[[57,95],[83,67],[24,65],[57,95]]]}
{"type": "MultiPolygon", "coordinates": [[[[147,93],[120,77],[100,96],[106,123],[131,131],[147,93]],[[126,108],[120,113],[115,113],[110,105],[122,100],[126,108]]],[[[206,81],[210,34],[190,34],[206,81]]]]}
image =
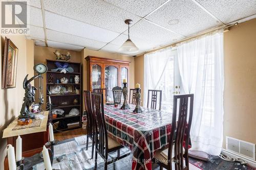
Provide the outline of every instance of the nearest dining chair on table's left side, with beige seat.
{"type": "Polygon", "coordinates": [[[97,169],[97,155],[99,154],[101,158],[104,160],[104,169],[106,170],[108,169],[108,164],[130,155],[130,153],[120,156],[120,149],[123,148],[123,146],[108,136],[104,117],[103,94],[92,92],[91,96],[92,110],[97,121],[97,127],[95,127],[95,129],[98,129],[96,130],[95,134],[96,136],[98,136],[98,140],[96,140],[95,144],[94,169],[97,169]],[[117,157],[115,159],[111,159],[108,161],[108,154],[114,151],[117,151],[117,157]]]}

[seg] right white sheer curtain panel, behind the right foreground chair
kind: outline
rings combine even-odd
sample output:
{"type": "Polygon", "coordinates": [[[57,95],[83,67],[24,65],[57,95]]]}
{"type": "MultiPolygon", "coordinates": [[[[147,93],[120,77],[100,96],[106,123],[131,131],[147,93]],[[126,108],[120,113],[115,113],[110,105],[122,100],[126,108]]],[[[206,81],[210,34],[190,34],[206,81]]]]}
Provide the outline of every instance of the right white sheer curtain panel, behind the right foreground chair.
{"type": "Polygon", "coordinates": [[[177,44],[185,93],[194,93],[191,150],[219,155],[223,142],[223,32],[177,44]]]}

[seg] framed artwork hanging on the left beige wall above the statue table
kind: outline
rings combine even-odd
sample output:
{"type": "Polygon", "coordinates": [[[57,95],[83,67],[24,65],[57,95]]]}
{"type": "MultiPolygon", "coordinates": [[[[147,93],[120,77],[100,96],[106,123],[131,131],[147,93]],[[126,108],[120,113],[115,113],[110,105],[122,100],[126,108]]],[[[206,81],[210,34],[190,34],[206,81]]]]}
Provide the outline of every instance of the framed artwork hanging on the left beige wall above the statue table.
{"type": "Polygon", "coordinates": [[[5,37],[5,49],[2,71],[2,89],[16,87],[16,71],[18,48],[14,43],[5,37]]]}

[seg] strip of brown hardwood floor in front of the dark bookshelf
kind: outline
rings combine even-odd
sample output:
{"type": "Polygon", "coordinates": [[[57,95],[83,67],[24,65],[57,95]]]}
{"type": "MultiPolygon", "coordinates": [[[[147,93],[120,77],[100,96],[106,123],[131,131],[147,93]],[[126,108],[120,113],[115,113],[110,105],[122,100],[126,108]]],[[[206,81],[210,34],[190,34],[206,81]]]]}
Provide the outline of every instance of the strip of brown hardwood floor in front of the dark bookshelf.
{"type": "Polygon", "coordinates": [[[74,130],[70,130],[70,131],[55,133],[54,139],[65,140],[65,139],[70,139],[70,138],[74,138],[74,137],[82,136],[82,135],[86,135],[86,134],[87,134],[86,129],[79,128],[79,129],[74,129],[74,130]]]}

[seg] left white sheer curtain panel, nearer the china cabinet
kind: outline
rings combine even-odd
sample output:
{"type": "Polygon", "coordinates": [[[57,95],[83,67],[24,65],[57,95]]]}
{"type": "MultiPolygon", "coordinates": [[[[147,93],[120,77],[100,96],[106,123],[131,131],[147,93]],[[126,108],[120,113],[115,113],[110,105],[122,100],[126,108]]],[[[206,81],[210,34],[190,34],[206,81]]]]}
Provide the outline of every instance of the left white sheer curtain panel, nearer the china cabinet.
{"type": "MultiPolygon", "coordinates": [[[[162,80],[164,79],[164,82],[171,80],[170,77],[166,80],[165,71],[169,69],[169,66],[173,67],[172,61],[173,53],[170,47],[144,55],[144,106],[147,104],[147,90],[151,89],[163,91],[162,108],[168,108],[167,99],[165,99],[164,94],[167,94],[170,88],[168,84],[163,84],[162,80]]],[[[170,93],[170,98],[171,95],[170,93]]]]}

